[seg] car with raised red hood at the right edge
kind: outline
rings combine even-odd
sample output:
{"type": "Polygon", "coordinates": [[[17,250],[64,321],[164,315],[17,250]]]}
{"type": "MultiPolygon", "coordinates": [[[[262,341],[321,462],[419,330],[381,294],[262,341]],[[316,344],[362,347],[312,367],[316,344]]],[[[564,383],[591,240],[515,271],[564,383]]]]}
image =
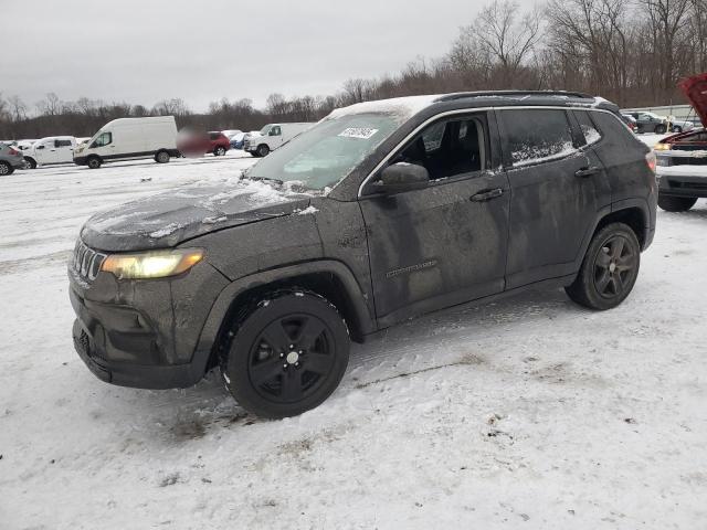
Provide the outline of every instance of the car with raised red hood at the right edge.
{"type": "MultiPolygon", "coordinates": [[[[707,123],[707,73],[678,85],[703,123],[707,123]]],[[[707,130],[704,128],[663,138],[656,146],[658,206],[684,212],[707,198],[707,130]]]]}

